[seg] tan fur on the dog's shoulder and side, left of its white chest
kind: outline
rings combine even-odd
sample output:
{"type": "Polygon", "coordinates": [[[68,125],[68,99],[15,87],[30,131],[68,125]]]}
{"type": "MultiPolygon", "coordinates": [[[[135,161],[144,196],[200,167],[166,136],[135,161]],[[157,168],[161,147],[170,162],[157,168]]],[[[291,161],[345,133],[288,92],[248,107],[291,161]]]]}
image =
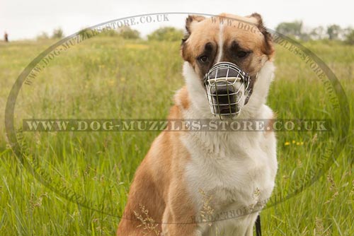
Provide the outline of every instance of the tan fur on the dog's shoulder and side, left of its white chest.
{"type": "MultiPolygon", "coordinates": [[[[181,90],[180,95],[185,98],[186,90],[181,90]]],[[[169,119],[182,119],[177,105],[171,107],[169,119]]],[[[134,212],[138,212],[140,206],[149,211],[149,217],[158,224],[156,230],[159,232],[168,230],[171,235],[193,235],[196,225],[191,219],[196,213],[183,177],[190,156],[180,141],[180,135],[183,133],[163,131],[152,143],[135,173],[117,235],[145,233],[156,236],[156,231],[142,232],[139,227],[141,222],[134,212]]]]}

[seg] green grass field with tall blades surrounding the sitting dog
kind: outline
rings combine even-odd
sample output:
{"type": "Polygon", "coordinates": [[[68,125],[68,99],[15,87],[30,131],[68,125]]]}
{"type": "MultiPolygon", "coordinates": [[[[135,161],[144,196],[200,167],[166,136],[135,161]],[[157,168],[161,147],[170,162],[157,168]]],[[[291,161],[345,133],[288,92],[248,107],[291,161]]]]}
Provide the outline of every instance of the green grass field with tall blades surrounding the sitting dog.
{"type": "MultiPolygon", "coordinates": [[[[4,110],[17,76],[52,40],[0,43],[0,235],[113,235],[135,169],[159,133],[27,132],[25,160],[43,171],[33,177],[6,144],[4,110]],[[43,179],[42,179],[43,180],[43,179]],[[92,208],[61,196],[84,196],[92,208]],[[93,209],[95,208],[95,209],[93,209]],[[96,211],[98,210],[98,211],[96,211]],[[102,213],[103,212],[103,213],[102,213]]],[[[354,117],[354,47],[308,42],[333,70],[354,117]]],[[[304,61],[277,47],[268,105],[278,118],[340,119],[324,84],[304,61]]],[[[95,37],[57,57],[18,95],[15,123],[24,118],[164,118],[183,85],[179,42],[95,37]]],[[[278,132],[274,195],[296,186],[343,132],[278,132]]],[[[354,128],[333,165],[312,186],[262,211],[263,235],[354,235],[354,128]]],[[[319,170],[320,172],[321,170],[319,170]]]]}

